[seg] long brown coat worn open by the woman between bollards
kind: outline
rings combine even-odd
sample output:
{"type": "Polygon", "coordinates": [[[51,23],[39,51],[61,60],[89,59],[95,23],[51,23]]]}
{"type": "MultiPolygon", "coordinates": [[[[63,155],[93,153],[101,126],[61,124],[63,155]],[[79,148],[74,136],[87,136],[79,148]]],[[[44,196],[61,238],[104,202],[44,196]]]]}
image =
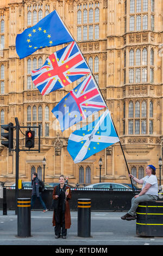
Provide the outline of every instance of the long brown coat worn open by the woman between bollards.
{"type": "MultiPolygon", "coordinates": [[[[55,186],[54,187],[54,190],[53,190],[53,199],[54,200],[57,200],[56,198],[55,198],[55,190],[56,190],[56,187],[57,186],[55,186]]],[[[68,193],[68,195],[67,195],[67,198],[66,198],[66,205],[65,205],[65,228],[67,229],[67,228],[70,228],[70,226],[71,226],[71,215],[70,215],[70,205],[69,205],[69,203],[68,203],[68,201],[69,201],[69,199],[71,199],[71,188],[70,187],[68,187],[68,186],[66,186],[66,190],[69,188],[69,193],[68,193]]],[[[53,226],[55,226],[55,211],[53,211],[53,221],[52,221],[52,223],[53,223],[53,226]]]]}

